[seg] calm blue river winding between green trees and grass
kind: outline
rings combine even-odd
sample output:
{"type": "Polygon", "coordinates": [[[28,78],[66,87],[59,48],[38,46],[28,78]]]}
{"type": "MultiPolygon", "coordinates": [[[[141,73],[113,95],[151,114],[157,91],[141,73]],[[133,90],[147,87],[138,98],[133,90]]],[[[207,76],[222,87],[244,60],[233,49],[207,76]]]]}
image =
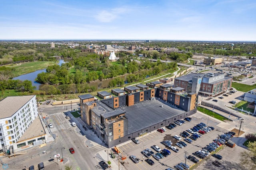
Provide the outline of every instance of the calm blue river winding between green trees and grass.
{"type": "MultiPolygon", "coordinates": [[[[61,65],[62,63],[65,63],[64,59],[60,59],[58,65],[61,65]]],[[[36,79],[37,75],[39,73],[42,73],[42,72],[46,72],[46,69],[37,70],[37,71],[34,71],[32,73],[28,73],[28,74],[20,75],[18,77],[14,77],[13,80],[22,80],[22,81],[30,80],[30,81],[32,81],[32,86],[36,86],[36,90],[39,90],[39,86],[42,85],[42,84],[37,83],[35,81],[35,79],[36,79]]]]}

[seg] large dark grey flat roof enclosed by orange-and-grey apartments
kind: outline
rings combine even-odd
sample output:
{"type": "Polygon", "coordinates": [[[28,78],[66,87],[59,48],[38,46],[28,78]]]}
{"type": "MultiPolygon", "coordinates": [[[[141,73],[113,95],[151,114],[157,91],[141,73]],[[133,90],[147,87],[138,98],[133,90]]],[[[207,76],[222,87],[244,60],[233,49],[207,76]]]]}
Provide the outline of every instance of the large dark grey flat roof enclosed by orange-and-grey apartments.
{"type": "Polygon", "coordinates": [[[172,108],[158,100],[147,100],[133,106],[122,107],[128,117],[128,134],[170,119],[185,111],[172,108]],[[160,107],[163,105],[163,107],[160,107]],[[142,120],[142,121],[138,121],[142,120]]]}

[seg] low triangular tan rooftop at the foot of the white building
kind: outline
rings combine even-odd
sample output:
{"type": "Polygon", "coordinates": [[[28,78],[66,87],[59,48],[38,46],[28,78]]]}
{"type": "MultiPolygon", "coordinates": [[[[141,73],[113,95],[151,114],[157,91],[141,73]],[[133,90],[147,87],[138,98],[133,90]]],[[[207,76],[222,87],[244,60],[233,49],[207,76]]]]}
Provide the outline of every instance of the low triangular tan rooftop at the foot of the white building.
{"type": "Polygon", "coordinates": [[[27,128],[27,130],[19,138],[18,142],[22,140],[28,140],[29,138],[34,138],[35,136],[40,136],[46,134],[44,132],[44,127],[40,121],[39,116],[32,122],[32,124],[27,128]]]}

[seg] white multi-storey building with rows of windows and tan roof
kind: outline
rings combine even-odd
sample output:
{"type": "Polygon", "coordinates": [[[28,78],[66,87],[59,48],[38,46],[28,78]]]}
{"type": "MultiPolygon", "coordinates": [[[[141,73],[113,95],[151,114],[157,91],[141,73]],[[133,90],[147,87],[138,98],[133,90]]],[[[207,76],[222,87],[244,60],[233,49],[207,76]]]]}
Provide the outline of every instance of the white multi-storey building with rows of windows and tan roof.
{"type": "MultiPolygon", "coordinates": [[[[8,150],[14,152],[14,149],[24,146],[24,144],[20,145],[19,139],[36,117],[38,117],[36,96],[6,97],[0,101],[0,108],[0,153],[7,153],[8,150]]],[[[37,130],[34,129],[34,132],[36,131],[37,130]]],[[[40,131],[42,130],[40,129],[40,131]]],[[[43,131],[38,136],[42,135],[43,131]]],[[[30,134],[30,136],[32,136],[32,134],[30,134]]],[[[35,141],[35,139],[31,137],[28,139],[35,141]]]]}

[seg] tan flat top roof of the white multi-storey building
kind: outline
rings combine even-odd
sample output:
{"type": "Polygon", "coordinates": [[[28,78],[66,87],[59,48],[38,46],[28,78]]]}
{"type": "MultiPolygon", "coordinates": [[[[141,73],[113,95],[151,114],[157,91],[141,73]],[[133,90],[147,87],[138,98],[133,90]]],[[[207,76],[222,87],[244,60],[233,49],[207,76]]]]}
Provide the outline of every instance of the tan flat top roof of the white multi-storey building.
{"type": "Polygon", "coordinates": [[[10,96],[0,101],[1,114],[0,119],[11,117],[20,108],[22,108],[34,95],[29,96],[10,96]]]}

